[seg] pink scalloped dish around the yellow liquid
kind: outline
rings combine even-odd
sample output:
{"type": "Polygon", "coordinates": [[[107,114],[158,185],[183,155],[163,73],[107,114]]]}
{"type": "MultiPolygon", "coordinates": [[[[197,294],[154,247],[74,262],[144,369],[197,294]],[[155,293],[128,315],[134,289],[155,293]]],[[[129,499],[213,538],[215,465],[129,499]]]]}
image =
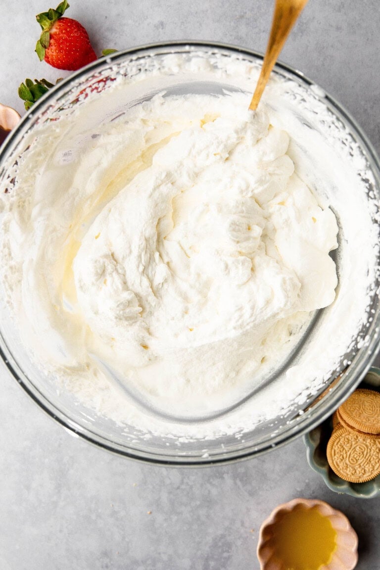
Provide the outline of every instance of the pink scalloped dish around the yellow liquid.
{"type": "MultiPolygon", "coordinates": [[[[287,565],[281,561],[275,553],[273,547],[273,537],[276,533],[276,526],[288,512],[294,508],[303,506],[305,509],[317,508],[318,512],[328,518],[336,536],[336,549],[332,559],[328,564],[324,564],[315,570],[353,570],[358,561],[358,537],[348,518],[331,507],[328,503],[317,499],[293,499],[288,503],[280,504],[271,515],[264,520],[260,528],[258,559],[260,570],[287,570],[287,565]]],[[[305,545],[307,547],[307,545],[305,545]]],[[[314,570],[314,569],[313,569],[314,570]]]]}

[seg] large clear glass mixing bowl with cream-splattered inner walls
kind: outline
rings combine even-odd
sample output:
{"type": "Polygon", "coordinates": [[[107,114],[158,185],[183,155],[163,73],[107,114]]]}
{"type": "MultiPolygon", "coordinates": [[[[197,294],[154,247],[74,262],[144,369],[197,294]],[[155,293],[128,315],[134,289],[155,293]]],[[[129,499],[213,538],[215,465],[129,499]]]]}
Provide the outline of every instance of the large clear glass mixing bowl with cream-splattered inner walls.
{"type": "MultiPolygon", "coordinates": [[[[17,188],[18,168],[28,153],[38,148],[40,129],[46,125],[54,128],[62,117],[73,116],[72,132],[65,135],[70,140],[66,155],[69,156],[80,153],[81,146],[88,144],[99,124],[120,120],[126,109],[162,91],[167,95],[225,96],[240,91],[247,93],[248,105],[248,94],[255,86],[261,61],[259,54],[237,47],[182,42],[135,48],[97,60],[63,80],[26,113],[2,146],[0,188],[6,193],[17,188]],[[115,85],[119,83],[127,84],[128,88],[118,91],[115,85]],[[81,121],[79,111],[90,103],[91,113],[81,121]]],[[[277,64],[264,93],[264,101],[269,106],[279,84],[286,87],[281,92],[281,104],[288,117],[291,136],[292,128],[297,127],[295,133],[308,132],[314,137],[311,154],[303,152],[303,141],[297,140],[296,135],[289,154],[301,178],[318,194],[321,202],[328,196],[336,214],[339,247],[334,260],[339,284],[333,305],[316,312],[296,351],[268,382],[278,383],[278,398],[286,396],[284,381],[289,368],[305,366],[305,363],[312,368],[313,361],[308,360],[310,351],[314,350],[314,357],[318,359],[324,350],[331,352],[336,343],[334,368],[324,374],[323,381],[310,385],[306,398],[292,398],[276,417],[249,429],[202,438],[183,438],[179,433],[170,435],[170,429],[167,436],[155,435],[139,431],[133,425],[118,425],[84,406],[73,394],[59,389],[54,378],[43,374],[28,355],[10,310],[2,300],[0,352],[3,362],[33,400],[71,433],[121,455],[166,465],[199,466],[248,458],[291,441],[319,424],[332,414],[370,367],[378,348],[380,324],[379,273],[375,271],[379,266],[376,245],[379,160],[352,117],[300,72],[277,64]],[[331,157],[333,160],[329,161],[331,157]],[[339,169],[336,169],[337,161],[339,169]],[[322,181],[318,182],[315,176],[318,169],[326,170],[331,178],[329,188],[322,181]],[[343,179],[338,180],[341,176],[343,179]],[[351,214],[355,200],[363,204],[361,214],[358,207],[358,227],[350,223],[350,215],[342,213],[342,204],[350,200],[351,214]],[[369,236],[373,247],[366,248],[369,236]],[[355,289],[355,284],[364,282],[368,275],[365,295],[359,299],[360,291],[355,289]],[[364,298],[365,304],[361,306],[364,298]],[[362,319],[345,320],[352,307],[358,307],[362,319]],[[340,341],[346,337],[342,348],[340,341]],[[321,349],[316,352],[317,345],[321,349]]],[[[3,272],[1,283],[5,278],[3,272]]],[[[246,405],[251,398],[258,398],[259,402],[260,392],[261,388],[237,407],[246,405]]],[[[213,420],[206,418],[205,421],[213,420]]]]}

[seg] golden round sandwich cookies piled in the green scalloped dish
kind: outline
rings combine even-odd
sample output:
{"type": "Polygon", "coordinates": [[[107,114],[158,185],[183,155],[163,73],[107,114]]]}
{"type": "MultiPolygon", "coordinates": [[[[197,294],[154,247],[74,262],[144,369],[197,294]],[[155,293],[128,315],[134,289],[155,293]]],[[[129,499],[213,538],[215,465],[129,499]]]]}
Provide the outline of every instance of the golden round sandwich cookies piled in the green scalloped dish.
{"type": "Polygon", "coordinates": [[[380,474],[380,393],[355,390],[337,409],[327,459],[334,473],[351,483],[380,474]]]}

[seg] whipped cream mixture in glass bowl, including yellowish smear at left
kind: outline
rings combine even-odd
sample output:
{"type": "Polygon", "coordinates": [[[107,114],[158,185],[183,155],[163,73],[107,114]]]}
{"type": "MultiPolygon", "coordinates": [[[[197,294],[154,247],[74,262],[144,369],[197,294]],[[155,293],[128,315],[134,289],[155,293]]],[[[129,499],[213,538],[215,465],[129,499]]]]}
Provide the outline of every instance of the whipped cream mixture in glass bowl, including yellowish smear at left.
{"type": "Polygon", "coordinates": [[[5,221],[13,306],[40,366],[91,405],[116,378],[125,409],[136,394],[181,417],[228,408],[333,302],[336,218],[269,109],[246,107],[157,95],[74,158],[42,137],[5,221]]]}

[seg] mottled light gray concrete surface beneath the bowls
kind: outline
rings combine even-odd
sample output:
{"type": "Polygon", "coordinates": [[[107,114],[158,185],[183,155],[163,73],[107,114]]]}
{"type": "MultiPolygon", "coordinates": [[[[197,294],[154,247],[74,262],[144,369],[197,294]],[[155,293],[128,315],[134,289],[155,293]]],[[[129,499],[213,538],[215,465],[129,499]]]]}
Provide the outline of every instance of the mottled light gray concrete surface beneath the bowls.
{"type": "MultiPolygon", "coordinates": [[[[49,1],[0,1],[0,101],[19,111],[26,77],[67,75],[33,51],[34,16],[55,7],[49,1]]],[[[271,0],[71,5],[97,52],[169,39],[264,51],[272,10],[271,0]]],[[[378,0],[310,0],[281,60],[345,105],[379,152],[378,25],[378,0]]],[[[0,372],[0,570],[257,570],[261,521],[296,496],[344,511],[359,535],[358,570],[380,569],[380,499],[334,494],[300,439],[230,466],[141,465],[71,437],[0,372]]]]}

